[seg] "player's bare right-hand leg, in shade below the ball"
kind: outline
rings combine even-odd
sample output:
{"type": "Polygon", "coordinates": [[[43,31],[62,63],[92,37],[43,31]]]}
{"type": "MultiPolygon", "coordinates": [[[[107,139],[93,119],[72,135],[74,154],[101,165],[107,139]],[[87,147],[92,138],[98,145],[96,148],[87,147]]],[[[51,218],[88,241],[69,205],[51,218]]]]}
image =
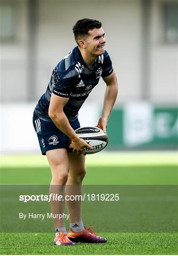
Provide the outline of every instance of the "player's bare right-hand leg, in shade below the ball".
{"type": "MultiPolygon", "coordinates": [[[[82,181],[86,174],[85,156],[69,153],[69,176],[66,183],[66,195],[81,195],[82,181]]],[[[66,201],[70,214],[70,223],[81,221],[81,200],[66,201]]]]}

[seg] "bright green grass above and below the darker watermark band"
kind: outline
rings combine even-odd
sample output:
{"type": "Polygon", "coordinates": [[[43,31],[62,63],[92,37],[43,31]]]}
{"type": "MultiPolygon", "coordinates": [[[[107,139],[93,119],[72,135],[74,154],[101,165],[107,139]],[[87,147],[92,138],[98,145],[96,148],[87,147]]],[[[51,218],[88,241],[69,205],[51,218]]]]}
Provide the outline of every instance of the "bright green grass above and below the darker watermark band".
{"type": "MultiPolygon", "coordinates": [[[[1,184],[49,184],[45,156],[4,155],[1,184]]],[[[87,156],[84,184],[175,185],[176,153],[106,153],[87,156]]],[[[1,205],[2,206],[2,205],[1,205]]],[[[1,219],[1,221],[3,221],[1,219]]],[[[99,225],[99,223],[98,223],[99,225]]],[[[97,227],[96,227],[97,231],[97,227]]],[[[119,230],[118,230],[119,232],[119,230]]],[[[176,255],[177,233],[99,233],[106,244],[53,246],[53,233],[1,233],[3,255],[176,255]]]]}

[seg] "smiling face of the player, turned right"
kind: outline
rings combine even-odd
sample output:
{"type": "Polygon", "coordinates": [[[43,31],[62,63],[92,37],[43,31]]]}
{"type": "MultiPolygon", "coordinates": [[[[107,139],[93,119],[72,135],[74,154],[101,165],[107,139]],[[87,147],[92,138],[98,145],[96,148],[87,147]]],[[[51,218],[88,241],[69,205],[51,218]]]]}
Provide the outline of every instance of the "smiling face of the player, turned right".
{"type": "Polygon", "coordinates": [[[106,40],[104,38],[105,32],[103,28],[94,28],[92,30],[89,30],[88,33],[89,36],[87,36],[85,40],[80,40],[82,41],[82,44],[80,46],[84,48],[89,55],[102,55],[104,53],[104,46],[106,43],[106,40]]]}

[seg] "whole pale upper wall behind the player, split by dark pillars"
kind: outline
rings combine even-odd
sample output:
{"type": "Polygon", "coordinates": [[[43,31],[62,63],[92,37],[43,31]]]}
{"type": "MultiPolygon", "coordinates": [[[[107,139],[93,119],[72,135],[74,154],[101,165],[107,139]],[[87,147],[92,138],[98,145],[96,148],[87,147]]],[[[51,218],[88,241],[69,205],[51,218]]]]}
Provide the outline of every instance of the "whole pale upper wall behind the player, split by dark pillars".
{"type": "MultiPolygon", "coordinates": [[[[151,1],[150,100],[175,104],[177,46],[163,44],[160,40],[161,2],[151,1]]],[[[27,100],[28,7],[27,0],[16,0],[15,3],[16,38],[13,42],[2,42],[1,46],[1,99],[5,102],[27,100]]],[[[139,100],[142,86],[142,0],[39,0],[36,99],[45,92],[54,66],[76,46],[72,26],[84,17],[96,18],[103,23],[106,49],[119,82],[117,104],[139,100]]],[[[102,104],[104,91],[101,80],[88,101],[102,104]]]]}

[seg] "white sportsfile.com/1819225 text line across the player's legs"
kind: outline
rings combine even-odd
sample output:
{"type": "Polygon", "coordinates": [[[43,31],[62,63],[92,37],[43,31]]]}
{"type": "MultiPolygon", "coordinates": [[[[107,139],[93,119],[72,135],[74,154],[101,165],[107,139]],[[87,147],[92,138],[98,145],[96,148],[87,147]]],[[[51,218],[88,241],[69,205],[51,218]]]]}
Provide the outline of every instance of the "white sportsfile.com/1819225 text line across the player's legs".
{"type": "Polygon", "coordinates": [[[49,195],[19,195],[19,201],[29,202],[29,201],[119,201],[119,194],[87,194],[84,193],[83,195],[59,195],[55,193],[51,193],[49,195]]]}

